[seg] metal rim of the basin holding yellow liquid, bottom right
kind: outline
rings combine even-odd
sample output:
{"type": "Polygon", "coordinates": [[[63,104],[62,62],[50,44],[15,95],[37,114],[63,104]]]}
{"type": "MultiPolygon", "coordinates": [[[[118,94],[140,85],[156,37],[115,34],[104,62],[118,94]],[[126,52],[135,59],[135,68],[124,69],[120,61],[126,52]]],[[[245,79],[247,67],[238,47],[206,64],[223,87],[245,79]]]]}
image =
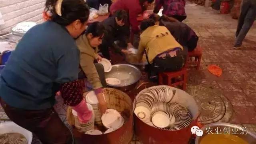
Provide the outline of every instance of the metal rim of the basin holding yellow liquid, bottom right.
{"type": "Polygon", "coordinates": [[[252,132],[247,132],[247,134],[241,134],[241,127],[237,126],[235,124],[229,124],[229,123],[224,123],[224,122],[216,122],[216,123],[212,123],[212,124],[208,124],[206,126],[204,126],[203,128],[201,128],[201,130],[204,132],[203,136],[196,136],[196,144],[200,144],[200,141],[202,140],[202,138],[204,138],[204,136],[207,135],[207,130],[208,128],[213,128],[213,132],[215,132],[215,129],[219,128],[222,130],[223,134],[223,129],[226,128],[230,128],[230,133],[232,134],[232,130],[238,130],[238,134],[236,134],[236,136],[244,139],[246,142],[248,142],[249,144],[256,144],[256,134],[252,133],[252,132]],[[206,129],[207,128],[207,129],[206,129]]]}

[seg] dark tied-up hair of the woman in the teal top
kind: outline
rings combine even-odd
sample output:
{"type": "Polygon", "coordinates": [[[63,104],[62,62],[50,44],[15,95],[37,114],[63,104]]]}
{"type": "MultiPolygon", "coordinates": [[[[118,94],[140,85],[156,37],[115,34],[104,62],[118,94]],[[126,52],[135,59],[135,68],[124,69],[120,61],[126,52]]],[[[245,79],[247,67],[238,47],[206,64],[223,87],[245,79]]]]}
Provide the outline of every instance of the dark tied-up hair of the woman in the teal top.
{"type": "Polygon", "coordinates": [[[56,13],[56,3],[58,0],[46,0],[46,12],[51,12],[51,21],[54,21],[62,26],[68,26],[75,20],[80,20],[82,23],[89,18],[89,8],[84,0],[63,0],[61,4],[61,14],[56,13]]]}

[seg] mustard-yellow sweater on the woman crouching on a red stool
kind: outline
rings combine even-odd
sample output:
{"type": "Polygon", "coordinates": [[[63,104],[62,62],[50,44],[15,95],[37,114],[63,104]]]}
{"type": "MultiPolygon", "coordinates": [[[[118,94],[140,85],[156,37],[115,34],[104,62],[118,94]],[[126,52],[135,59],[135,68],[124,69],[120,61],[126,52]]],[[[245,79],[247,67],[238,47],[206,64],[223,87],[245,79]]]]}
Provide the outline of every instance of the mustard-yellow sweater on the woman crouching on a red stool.
{"type": "Polygon", "coordinates": [[[139,61],[142,60],[142,56],[146,50],[148,60],[152,64],[158,54],[177,47],[183,50],[183,47],[175,40],[166,27],[150,26],[140,34],[137,58],[139,61]]]}

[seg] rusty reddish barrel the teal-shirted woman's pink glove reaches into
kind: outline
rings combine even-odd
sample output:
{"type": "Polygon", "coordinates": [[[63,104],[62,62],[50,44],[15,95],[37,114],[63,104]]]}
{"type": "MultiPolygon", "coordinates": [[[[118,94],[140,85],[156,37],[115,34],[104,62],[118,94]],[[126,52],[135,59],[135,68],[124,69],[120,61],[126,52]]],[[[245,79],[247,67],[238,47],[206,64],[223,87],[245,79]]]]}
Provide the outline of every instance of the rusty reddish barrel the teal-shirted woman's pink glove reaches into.
{"type": "Polygon", "coordinates": [[[108,134],[88,135],[78,132],[74,128],[74,117],[72,108],[67,110],[67,119],[73,127],[73,133],[79,144],[130,144],[133,136],[133,111],[132,100],[130,97],[120,90],[114,88],[104,88],[104,96],[108,104],[108,108],[112,108],[121,113],[125,119],[124,125],[108,134]]]}

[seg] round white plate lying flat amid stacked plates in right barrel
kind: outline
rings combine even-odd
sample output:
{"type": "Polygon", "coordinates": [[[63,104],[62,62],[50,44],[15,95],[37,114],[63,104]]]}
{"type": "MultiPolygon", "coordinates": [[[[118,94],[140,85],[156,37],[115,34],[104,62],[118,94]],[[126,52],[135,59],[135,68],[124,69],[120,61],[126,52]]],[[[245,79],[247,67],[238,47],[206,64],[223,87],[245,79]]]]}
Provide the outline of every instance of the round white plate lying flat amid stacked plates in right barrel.
{"type": "Polygon", "coordinates": [[[152,123],[158,128],[166,128],[170,124],[170,118],[163,112],[156,112],[152,116],[152,123]]]}

